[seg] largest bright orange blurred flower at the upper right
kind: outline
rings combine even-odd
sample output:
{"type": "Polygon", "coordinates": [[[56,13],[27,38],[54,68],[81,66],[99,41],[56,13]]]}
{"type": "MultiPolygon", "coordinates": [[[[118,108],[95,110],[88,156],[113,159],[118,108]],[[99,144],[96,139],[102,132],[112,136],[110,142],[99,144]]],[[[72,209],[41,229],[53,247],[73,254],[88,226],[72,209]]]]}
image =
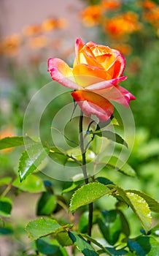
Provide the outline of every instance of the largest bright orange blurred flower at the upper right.
{"type": "Polygon", "coordinates": [[[125,12],[123,15],[116,15],[106,20],[104,30],[111,37],[123,37],[124,34],[131,34],[141,29],[138,15],[135,12],[125,12]]]}

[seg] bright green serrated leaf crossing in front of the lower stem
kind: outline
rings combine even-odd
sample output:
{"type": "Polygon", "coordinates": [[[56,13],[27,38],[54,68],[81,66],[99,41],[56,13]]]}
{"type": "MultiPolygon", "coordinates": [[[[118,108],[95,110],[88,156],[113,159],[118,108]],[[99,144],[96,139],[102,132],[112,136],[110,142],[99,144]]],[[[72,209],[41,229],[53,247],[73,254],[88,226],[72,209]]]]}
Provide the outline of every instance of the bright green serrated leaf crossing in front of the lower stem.
{"type": "Polygon", "coordinates": [[[69,211],[74,212],[77,208],[93,203],[95,200],[108,193],[109,189],[104,184],[98,182],[86,184],[74,192],[74,195],[71,197],[69,211]]]}

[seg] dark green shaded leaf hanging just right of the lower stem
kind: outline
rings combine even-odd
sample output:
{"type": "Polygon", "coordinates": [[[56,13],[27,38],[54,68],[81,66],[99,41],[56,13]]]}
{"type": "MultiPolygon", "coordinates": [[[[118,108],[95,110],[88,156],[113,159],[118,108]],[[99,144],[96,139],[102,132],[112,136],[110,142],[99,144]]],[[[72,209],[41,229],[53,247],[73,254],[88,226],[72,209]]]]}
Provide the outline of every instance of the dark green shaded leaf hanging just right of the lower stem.
{"type": "Polygon", "coordinates": [[[102,211],[101,216],[98,218],[98,226],[106,241],[114,245],[119,239],[122,230],[119,212],[116,210],[102,211]]]}

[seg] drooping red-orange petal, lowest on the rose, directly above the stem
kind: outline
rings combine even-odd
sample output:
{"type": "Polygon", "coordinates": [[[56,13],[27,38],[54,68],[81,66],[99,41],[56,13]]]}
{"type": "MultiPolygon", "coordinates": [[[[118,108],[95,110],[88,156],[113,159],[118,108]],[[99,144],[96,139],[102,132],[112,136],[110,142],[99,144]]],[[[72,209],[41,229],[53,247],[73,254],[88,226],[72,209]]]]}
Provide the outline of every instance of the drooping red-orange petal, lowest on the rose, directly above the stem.
{"type": "Polygon", "coordinates": [[[95,115],[99,121],[108,120],[114,111],[112,103],[92,91],[73,91],[71,96],[86,116],[95,115]]]}

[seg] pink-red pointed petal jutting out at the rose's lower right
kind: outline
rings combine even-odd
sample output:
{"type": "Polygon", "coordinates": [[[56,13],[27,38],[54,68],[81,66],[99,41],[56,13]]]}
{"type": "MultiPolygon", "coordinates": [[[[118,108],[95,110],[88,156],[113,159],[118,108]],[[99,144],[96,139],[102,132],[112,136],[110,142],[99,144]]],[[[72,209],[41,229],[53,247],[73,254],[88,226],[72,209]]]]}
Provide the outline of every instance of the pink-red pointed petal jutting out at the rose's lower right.
{"type": "Polygon", "coordinates": [[[105,97],[108,100],[113,100],[118,102],[125,107],[130,105],[130,101],[136,99],[129,91],[124,89],[122,86],[113,86],[111,89],[107,89],[104,91],[98,91],[98,93],[105,97]]]}

